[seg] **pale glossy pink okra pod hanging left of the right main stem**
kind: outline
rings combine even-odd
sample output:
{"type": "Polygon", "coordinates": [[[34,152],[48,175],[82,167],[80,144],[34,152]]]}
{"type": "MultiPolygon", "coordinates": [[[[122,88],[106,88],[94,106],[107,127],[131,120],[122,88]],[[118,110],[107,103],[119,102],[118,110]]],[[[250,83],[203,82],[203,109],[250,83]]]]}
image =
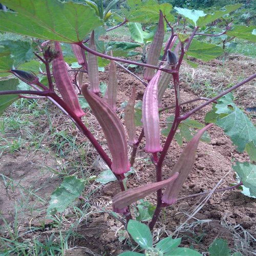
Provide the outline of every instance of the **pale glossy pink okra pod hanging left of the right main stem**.
{"type": "Polygon", "coordinates": [[[158,70],[153,79],[147,84],[142,102],[142,121],[146,138],[145,151],[151,153],[162,151],[157,102],[160,75],[161,70],[158,70]]]}

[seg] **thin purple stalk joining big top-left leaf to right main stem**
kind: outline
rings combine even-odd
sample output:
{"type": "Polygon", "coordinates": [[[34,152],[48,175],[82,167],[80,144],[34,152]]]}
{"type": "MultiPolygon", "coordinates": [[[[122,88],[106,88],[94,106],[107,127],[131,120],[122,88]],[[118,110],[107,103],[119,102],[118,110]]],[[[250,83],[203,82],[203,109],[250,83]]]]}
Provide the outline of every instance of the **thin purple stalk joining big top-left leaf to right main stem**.
{"type": "Polygon", "coordinates": [[[132,60],[129,60],[129,59],[121,59],[121,58],[117,58],[117,57],[111,57],[109,55],[106,55],[106,54],[103,54],[103,53],[99,53],[99,52],[96,52],[96,51],[90,49],[89,47],[87,47],[84,44],[82,44],[82,42],[78,42],[77,44],[81,48],[83,48],[84,50],[86,50],[86,51],[88,51],[88,52],[90,52],[90,53],[92,53],[94,55],[97,55],[99,57],[105,58],[105,59],[120,61],[120,62],[134,64],[134,65],[143,66],[143,67],[148,67],[148,68],[152,68],[152,69],[156,69],[156,70],[160,69],[160,70],[162,70],[164,72],[167,72],[167,73],[177,73],[176,70],[163,69],[163,68],[160,68],[160,67],[157,67],[157,66],[154,66],[154,65],[149,65],[149,64],[146,64],[146,63],[142,63],[142,62],[136,62],[136,61],[132,61],[132,60]]]}

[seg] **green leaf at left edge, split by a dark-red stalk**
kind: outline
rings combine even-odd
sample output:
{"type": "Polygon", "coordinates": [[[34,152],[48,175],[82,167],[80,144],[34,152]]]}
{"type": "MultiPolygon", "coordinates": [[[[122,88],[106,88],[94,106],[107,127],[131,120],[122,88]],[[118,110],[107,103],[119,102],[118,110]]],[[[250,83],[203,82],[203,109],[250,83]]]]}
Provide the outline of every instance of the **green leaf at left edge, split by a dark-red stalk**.
{"type": "MultiPolygon", "coordinates": [[[[19,83],[19,80],[15,78],[12,78],[9,80],[1,80],[0,91],[17,90],[18,83],[19,83]]],[[[0,116],[2,116],[4,111],[8,108],[8,106],[10,106],[17,99],[19,99],[18,94],[0,95],[0,116]]]]}

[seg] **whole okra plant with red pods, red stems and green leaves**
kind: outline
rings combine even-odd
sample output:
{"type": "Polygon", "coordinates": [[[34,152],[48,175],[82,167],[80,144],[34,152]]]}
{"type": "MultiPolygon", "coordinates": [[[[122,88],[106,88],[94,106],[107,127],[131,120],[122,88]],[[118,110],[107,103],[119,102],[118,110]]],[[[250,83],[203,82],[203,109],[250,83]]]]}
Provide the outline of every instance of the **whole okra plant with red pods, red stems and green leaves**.
{"type": "MultiPolygon", "coordinates": [[[[242,153],[246,150],[251,159],[251,163],[237,162],[233,166],[234,171],[237,172],[240,178],[239,184],[221,190],[243,185],[249,188],[249,196],[256,196],[256,166],[252,164],[252,161],[256,159],[256,128],[233,103],[231,94],[233,90],[254,79],[256,74],[214,98],[200,97],[182,102],[179,88],[180,67],[184,60],[195,66],[196,63],[190,60],[191,57],[207,61],[223,54],[222,47],[198,40],[198,37],[202,34],[209,37],[216,36],[216,34],[202,33],[205,26],[230,12],[236,11],[242,5],[229,5],[214,13],[175,8],[177,15],[181,15],[185,19],[184,30],[179,32],[179,30],[175,30],[175,17],[170,14],[173,7],[168,3],[159,5],[154,0],[141,2],[131,0],[128,3],[130,9],[123,9],[123,17],[117,14],[114,15],[119,24],[106,30],[104,21],[110,10],[107,9],[107,13],[104,13],[101,10],[102,6],[96,5],[92,1],[85,2],[87,5],[73,2],[61,3],[57,0],[1,0],[3,5],[15,12],[0,11],[0,31],[51,40],[55,47],[44,47],[44,44],[41,46],[36,44],[35,41],[31,43],[11,40],[0,42],[0,75],[7,77],[0,82],[0,114],[3,114],[12,102],[20,98],[36,98],[38,100],[47,98],[65,113],[79,131],[89,139],[99,156],[109,166],[118,180],[121,192],[113,198],[113,211],[123,215],[124,218],[111,215],[126,228],[129,227],[130,221],[134,218],[134,212],[130,206],[154,191],[157,191],[157,205],[148,223],[151,231],[153,231],[159,214],[164,207],[185,199],[178,198],[179,191],[195,163],[200,139],[203,141],[209,140],[206,131],[214,123],[224,129],[226,135],[238,146],[237,150],[239,152],[242,153]],[[154,25],[155,29],[152,28],[153,36],[151,32],[142,31],[139,22],[154,25]],[[106,31],[123,26],[126,23],[129,24],[132,37],[137,38],[138,44],[121,41],[104,42],[99,39],[99,36],[105,34],[106,31]],[[166,45],[164,45],[166,27],[169,27],[172,33],[166,45]],[[150,48],[147,52],[144,52],[146,45],[150,45],[150,48]],[[137,47],[144,49],[143,54],[146,56],[146,61],[131,60],[130,57],[140,54],[133,51],[137,47]],[[70,55],[72,61],[67,60],[67,56],[70,55]],[[125,58],[120,58],[120,56],[125,58]],[[74,62],[74,57],[76,57],[79,65],[79,69],[76,70],[69,66],[71,62],[74,62]],[[99,86],[99,67],[104,67],[109,62],[111,62],[109,84],[103,97],[99,86]],[[145,67],[145,80],[127,70],[120,62],[145,67]],[[131,98],[125,106],[125,125],[116,113],[116,98],[118,91],[121,90],[118,87],[116,65],[132,74],[145,86],[142,110],[140,111],[142,116],[139,116],[136,112],[138,107],[135,105],[135,87],[131,90],[131,98]],[[83,75],[88,75],[90,84],[82,83],[83,75]],[[20,81],[28,84],[29,89],[19,90],[17,86],[20,81]],[[173,84],[175,89],[173,95],[175,106],[162,108],[162,98],[170,83],[173,84]],[[77,94],[84,96],[92,113],[98,120],[108,143],[111,158],[108,155],[109,152],[103,150],[84,124],[86,116],[84,116],[84,110],[79,104],[77,94]],[[197,100],[204,100],[205,102],[181,115],[180,108],[182,104],[197,100]],[[209,104],[212,104],[212,110],[205,118],[205,122],[209,124],[204,126],[197,123],[194,127],[200,129],[198,132],[195,132],[192,129],[193,125],[191,125],[190,132],[194,137],[191,135],[191,138],[186,139],[190,141],[185,146],[172,172],[170,172],[169,178],[162,180],[162,165],[170,144],[174,138],[179,144],[182,144],[183,122],[187,121],[189,123],[189,118],[193,118],[194,113],[209,104]],[[160,132],[160,114],[171,108],[175,108],[175,115],[168,117],[168,121],[171,121],[172,125],[160,132]],[[137,119],[139,116],[139,125],[142,126],[139,136],[136,135],[138,120],[135,120],[135,116],[137,119]],[[127,131],[127,137],[125,131],[127,131]],[[164,143],[160,141],[160,133],[166,136],[164,143]],[[152,163],[155,166],[156,182],[130,189],[126,186],[126,176],[136,161],[137,148],[143,137],[145,137],[144,150],[151,156],[152,163]],[[132,147],[131,155],[129,155],[129,147],[132,147]],[[162,191],[163,188],[165,188],[164,192],[162,191]]],[[[255,31],[256,27],[253,26],[233,26],[229,23],[220,35],[225,34],[228,37],[256,41],[255,31]]],[[[50,201],[48,214],[54,215],[56,212],[62,212],[75,198],[84,199],[81,196],[83,189],[84,181],[82,179],[74,176],[66,177],[58,188],[58,192],[55,191],[51,196],[52,200],[50,201]],[[73,184],[73,187],[70,187],[71,184],[73,184]],[[66,191],[65,195],[69,195],[66,200],[61,199],[61,191],[66,191]]],[[[210,191],[189,197],[207,193],[210,193],[210,191]]],[[[164,254],[160,249],[157,249],[157,246],[156,248],[143,248],[146,249],[146,255],[164,254]],[[156,254],[158,251],[159,254],[156,254]]],[[[168,253],[166,251],[164,255],[175,254],[173,254],[173,251],[168,251],[168,253]]]]}

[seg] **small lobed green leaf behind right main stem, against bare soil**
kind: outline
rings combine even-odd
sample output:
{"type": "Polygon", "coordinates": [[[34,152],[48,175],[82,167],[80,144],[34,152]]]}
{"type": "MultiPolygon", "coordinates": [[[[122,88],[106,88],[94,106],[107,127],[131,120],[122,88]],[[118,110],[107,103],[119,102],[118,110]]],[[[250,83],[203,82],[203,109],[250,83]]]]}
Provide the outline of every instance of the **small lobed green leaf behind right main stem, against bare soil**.
{"type": "MultiPolygon", "coordinates": [[[[173,121],[174,121],[174,116],[167,117],[166,122],[169,122],[169,123],[167,123],[167,129],[163,129],[161,131],[161,134],[163,136],[166,136],[166,137],[168,136],[170,129],[172,128],[173,121]]],[[[197,133],[194,129],[202,129],[204,126],[205,125],[203,125],[202,123],[199,123],[198,121],[192,120],[190,118],[187,118],[186,120],[182,121],[178,126],[179,132],[175,134],[177,143],[180,146],[182,146],[183,138],[185,139],[186,142],[190,141],[197,133]]],[[[210,137],[207,134],[207,132],[203,134],[200,140],[204,142],[210,142],[210,137]]]]}

